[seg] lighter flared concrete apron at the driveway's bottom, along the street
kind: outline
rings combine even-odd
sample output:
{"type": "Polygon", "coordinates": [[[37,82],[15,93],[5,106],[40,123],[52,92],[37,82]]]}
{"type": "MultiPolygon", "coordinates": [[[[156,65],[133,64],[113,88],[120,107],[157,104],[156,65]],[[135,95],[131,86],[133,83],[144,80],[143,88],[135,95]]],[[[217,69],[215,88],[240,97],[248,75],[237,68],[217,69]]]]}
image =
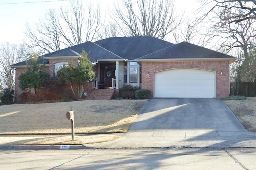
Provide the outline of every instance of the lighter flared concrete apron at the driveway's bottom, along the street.
{"type": "Polygon", "coordinates": [[[92,148],[256,148],[256,135],[252,132],[217,131],[148,131],[127,132],[110,142],[86,144],[92,148]]]}

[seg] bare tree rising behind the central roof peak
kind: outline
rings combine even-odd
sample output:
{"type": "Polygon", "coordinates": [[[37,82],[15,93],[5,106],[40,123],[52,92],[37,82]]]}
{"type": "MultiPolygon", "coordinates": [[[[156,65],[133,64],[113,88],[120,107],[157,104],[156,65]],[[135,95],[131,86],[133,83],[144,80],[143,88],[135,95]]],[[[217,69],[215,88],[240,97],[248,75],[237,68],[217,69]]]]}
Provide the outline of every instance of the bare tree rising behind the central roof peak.
{"type": "Polygon", "coordinates": [[[164,39],[180,20],[172,0],[123,0],[115,6],[112,18],[124,36],[154,36],[164,39]]]}

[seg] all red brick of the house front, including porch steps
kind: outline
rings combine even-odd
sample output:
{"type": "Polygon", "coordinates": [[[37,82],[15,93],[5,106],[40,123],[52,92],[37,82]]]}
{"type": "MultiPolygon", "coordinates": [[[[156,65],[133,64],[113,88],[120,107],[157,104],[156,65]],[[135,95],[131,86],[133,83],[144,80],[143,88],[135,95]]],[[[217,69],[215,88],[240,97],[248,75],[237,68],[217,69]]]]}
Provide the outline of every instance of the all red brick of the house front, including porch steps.
{"type": "MultiPolygon", "coordinates": [[[[50,74],[50,78],[54,77],[54,64],[58,62],[73,62],[75,66],[78,64],[78,58],[74,59],[50,59],[49,65],[45,67],[45,70],[50,74]]],[[[98,67],[96,67],[96,72],[98,67]]],[[[195,68],[210,70],[216,72],[216,98],[222,98],[229,96],[230,84],[229,84],[229,62],[228,61],[182,61],[182,62],[142,62],[142,88],[148,89],[154,94],[154,73],[162,70],[174,69],[174,68],[195,68]],[[149,72],[149,75],[147,74],[149,72]],[[220,72],[223,74],[221,75],[220,72]]],[[[25,72],[26,68],[16,68],[16,83],[15,94],[16,97],[22,94],[22,90],[18,87],[18,77],[21,72],[25,72]]],[[[122,70],[123,71],[123,70],[122,70]]],[[[96,73],[96,77],[97,77],[96,73]]],[[[62,92],[71,91],[70,84],[63,84],[58,86],[58,90],[62,92]]],[[[92,89],[92,83],[84,84],[84,92],[88,93],[88,99],[94,99],[96,96],[104,96],[106,90],[92,89]],[[98,94],[100,93],[100,94],[98,94]]],[[[74,85],[74,91],[77,95],[77,85],[74,85]]],[[[110,94],[104,98],[108,98],[110,94]]],[[[83,95],[83,98],[85,96],[83,95]]]]}

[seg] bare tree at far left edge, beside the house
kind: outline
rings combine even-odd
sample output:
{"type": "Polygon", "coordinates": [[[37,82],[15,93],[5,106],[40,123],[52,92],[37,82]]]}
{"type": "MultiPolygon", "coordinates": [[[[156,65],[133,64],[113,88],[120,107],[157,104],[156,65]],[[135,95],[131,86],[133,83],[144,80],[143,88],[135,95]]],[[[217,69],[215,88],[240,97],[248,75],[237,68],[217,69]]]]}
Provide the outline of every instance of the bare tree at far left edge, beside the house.
{"type": "Polygon", "coordinates": [[[4,42],[0,44],[0,90],[14,90],[15,70],[9,66],[28,57],[24,44],[4,42]]]}

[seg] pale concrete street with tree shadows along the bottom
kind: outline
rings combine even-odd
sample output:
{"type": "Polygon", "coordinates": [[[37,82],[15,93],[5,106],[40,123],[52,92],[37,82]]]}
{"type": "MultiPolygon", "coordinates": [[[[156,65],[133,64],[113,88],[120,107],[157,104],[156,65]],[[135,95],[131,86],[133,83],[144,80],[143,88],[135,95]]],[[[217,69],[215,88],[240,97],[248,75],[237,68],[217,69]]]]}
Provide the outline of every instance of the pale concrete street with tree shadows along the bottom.
{"type": "MultiPolygon", "coordinates": [[[[30,147],[30,146],[27,146],[30,147]]],[[[34,146],[36,147],[36,146],[34,146]]],[[[255,170],[256,148],[0,148],[2,170],[255,170]],[[41,149],[40,149],[41,148],[41,149]]]]}

